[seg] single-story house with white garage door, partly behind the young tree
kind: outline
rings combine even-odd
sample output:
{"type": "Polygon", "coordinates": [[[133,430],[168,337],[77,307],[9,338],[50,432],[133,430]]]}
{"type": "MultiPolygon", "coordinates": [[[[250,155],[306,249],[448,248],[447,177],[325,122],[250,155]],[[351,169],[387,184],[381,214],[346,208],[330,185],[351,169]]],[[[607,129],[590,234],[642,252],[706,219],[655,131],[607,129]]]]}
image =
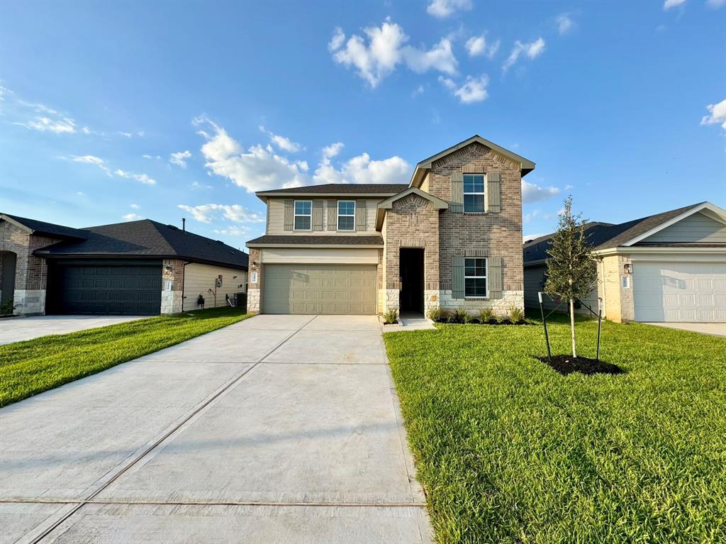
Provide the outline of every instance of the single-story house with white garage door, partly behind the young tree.
{"type": "MultiPolygon", "coordinates": [[[[617,322],[726,322],[726,210],[702,202],[621,224],[593,222],[585,235],[600,257],[597,289],[583,300],[596,312],[600,297],[605,317],[617,322]]],[[[524,244],[528,307],[538,306],[551,237],[524,244]]]]}

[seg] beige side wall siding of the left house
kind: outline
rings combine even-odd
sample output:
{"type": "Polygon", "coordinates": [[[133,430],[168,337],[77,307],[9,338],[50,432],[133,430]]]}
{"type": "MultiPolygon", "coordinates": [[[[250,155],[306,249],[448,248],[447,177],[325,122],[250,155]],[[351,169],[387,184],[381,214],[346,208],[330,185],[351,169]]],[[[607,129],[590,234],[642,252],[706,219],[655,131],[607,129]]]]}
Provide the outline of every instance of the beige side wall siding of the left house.
{"type": "Polygon", "coordinates": [[[211,264],[187,264],[184,267],[184,311],[199,308],[197,298],[200,294],[204,297],[205,308],[215,307],[214,295],[209,289],[216,291],[216,307],[224,306],[227,304],[224,295],[232,297],[234,293],[242,293],[246,283],[247,272],[242,269],[215,267],[211,264]],[[214,280],[219,275],[222,276],[222,286],[215,288],[214,280]]]}

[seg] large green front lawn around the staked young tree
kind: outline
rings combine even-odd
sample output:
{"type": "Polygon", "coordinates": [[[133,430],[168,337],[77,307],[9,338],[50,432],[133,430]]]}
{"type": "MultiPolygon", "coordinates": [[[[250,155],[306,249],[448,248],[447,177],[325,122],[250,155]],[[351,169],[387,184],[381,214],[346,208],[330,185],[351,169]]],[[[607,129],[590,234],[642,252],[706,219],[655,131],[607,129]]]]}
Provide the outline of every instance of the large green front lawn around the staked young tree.
{"type": "Polygon", "coordinates": [[[726,542],[726,338],[605,322],[627,374],[566,377],[541,325],[384,339],[437,542],[726,542]]]}

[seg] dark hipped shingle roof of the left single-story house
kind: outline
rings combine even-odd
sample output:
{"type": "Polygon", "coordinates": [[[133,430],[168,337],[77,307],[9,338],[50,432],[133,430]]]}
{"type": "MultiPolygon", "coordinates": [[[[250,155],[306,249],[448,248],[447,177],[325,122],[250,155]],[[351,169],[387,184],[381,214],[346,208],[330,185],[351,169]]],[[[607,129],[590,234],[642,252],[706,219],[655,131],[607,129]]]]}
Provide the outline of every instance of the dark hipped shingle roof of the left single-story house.
{"type": "Polygon", "coordinates": [[[218,240],[142,219],[78,229],[83,240],[68,240],[43,248],[41,256],[155,256],[229,267],[248,266],[248,254],[218,240]]]}

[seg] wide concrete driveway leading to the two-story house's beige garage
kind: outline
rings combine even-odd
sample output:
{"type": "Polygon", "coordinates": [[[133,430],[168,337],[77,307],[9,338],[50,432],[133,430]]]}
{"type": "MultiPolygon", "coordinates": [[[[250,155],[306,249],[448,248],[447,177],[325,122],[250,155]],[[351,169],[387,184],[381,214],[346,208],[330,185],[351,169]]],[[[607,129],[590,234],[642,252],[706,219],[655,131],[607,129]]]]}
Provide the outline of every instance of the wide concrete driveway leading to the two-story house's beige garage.
{"type": "Polygon", "coordinates": [[[253,317],[0,429],[3,542],[431,539],[376,317],[253,317]]]}

